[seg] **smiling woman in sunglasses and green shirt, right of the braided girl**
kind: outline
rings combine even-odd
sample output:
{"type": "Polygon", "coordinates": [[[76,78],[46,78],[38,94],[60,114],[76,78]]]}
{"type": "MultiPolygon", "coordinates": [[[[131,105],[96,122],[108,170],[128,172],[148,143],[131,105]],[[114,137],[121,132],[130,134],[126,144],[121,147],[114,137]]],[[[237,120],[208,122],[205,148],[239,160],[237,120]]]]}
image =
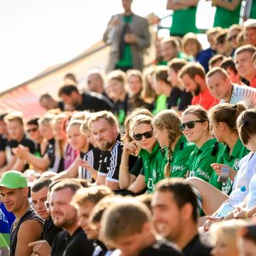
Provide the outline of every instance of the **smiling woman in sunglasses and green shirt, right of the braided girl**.
{"type": "Polygon", "coordinates": [[[179,127],[189,143],[196,145],[189,156],[187,176],[209,182],[213,172],[211,164],[216,162],[221,146],[212,137],[207,111],[199,105],[190,106],[183,112],[179,127]]]}

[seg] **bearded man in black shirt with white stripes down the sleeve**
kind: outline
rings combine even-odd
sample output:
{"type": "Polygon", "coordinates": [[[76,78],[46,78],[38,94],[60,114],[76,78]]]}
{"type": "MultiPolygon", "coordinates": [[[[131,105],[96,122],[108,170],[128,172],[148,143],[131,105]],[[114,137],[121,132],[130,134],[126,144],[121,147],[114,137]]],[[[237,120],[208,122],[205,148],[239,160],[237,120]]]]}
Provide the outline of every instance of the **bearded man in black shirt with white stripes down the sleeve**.
{"type": "Polygon", "coordinates": [[[119,189],[119,165],[123,149],[118,121],[113,113],[101,111],[91,116],[89,127],[97,147],[102,150],[96,183],[119,189]]]}

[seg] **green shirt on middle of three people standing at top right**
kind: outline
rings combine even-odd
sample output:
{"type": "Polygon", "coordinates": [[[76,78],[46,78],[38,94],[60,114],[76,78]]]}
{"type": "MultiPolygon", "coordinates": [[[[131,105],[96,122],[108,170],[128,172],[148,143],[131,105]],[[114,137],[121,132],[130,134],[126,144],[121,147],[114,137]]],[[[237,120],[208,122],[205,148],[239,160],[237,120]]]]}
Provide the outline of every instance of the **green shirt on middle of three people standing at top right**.
{"type": "MultiPolygon", "coordinates": [[[[232,0],[228,0],[227,2],[232,2],[232,0]]],[[[228,28],[233,24],[239,24],[240,9],[241,3],[238,4],[235,10],[224,9],[222,7],[217,6],[213,26],[221,26],[223,28],[228,28]]]]}

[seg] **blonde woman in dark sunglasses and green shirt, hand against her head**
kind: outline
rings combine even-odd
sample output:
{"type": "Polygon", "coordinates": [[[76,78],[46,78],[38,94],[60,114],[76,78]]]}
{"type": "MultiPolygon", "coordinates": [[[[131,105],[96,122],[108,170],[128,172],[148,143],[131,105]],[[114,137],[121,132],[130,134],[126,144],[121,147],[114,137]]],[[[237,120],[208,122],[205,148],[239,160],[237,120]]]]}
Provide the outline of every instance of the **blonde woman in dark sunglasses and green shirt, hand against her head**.
{"type": "Polygon", "coordinates": [[[153,118],[148,115],[138,114],[130,123],[130,133],[133,138],[130,154],[140,148],[138,156],[143,160],[142,172],[128,188],[134,193],[140,192],[146,187],[148,193],[153,193],[154,185],[164,178],[161,168],[164,154],[154,138],[152,120],[153,118]]]}

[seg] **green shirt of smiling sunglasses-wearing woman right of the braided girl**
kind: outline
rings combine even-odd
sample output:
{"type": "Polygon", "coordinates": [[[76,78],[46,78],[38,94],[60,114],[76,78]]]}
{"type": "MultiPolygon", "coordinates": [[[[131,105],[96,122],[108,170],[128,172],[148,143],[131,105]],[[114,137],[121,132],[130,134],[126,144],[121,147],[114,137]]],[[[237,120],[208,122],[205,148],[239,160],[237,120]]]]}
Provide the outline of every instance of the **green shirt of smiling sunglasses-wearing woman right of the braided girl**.
{"type": "Polygon", "coordinates": [[[216,163],[220,148],[216,138],[208,140],[201,148],[196,147],[189,157],[189,177],[200,177],[209,182],[213,172],[211,164],[216,163]]]}

